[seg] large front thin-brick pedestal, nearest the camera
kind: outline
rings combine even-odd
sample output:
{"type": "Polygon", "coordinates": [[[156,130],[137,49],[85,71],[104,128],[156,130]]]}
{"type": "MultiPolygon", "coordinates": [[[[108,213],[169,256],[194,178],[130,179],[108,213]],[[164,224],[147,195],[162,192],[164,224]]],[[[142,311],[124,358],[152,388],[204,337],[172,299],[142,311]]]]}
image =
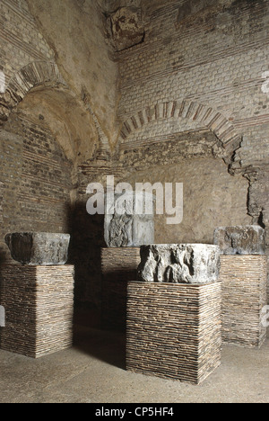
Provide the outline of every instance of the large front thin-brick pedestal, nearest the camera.
{"type": "Polygon", "coordinates": [[[220,282],[128,282],[128,371],[199,384],[220,364],[220,282]]]}

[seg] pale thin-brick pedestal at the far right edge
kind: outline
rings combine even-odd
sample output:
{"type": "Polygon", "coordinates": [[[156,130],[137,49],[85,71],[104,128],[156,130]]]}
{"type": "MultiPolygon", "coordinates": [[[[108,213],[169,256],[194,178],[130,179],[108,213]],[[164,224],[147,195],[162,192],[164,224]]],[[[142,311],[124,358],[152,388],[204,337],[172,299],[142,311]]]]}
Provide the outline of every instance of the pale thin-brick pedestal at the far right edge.
{"type": "Polygon", "coordinates": [[[265,255],[221,255],[223,343],[260,347],[265,342],[266,265],[265,255]]]}

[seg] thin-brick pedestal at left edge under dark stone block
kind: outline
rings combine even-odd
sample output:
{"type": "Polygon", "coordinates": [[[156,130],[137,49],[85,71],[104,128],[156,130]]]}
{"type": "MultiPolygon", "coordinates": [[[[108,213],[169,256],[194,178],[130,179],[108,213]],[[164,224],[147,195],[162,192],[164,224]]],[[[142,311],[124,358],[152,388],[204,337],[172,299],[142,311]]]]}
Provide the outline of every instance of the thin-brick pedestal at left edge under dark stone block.
{"type": "Polygon", "coordinates": [[[72,346],[74,266],[1,268],[1,349],[39,358],[72,346]]]}

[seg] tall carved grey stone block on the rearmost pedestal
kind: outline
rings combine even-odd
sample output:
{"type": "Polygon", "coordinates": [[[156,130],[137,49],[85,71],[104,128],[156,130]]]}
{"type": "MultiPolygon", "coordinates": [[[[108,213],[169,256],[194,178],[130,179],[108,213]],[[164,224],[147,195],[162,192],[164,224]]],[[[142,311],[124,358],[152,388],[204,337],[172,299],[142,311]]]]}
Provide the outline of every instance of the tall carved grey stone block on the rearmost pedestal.
{"type": "Polygon", "coordinates": [[[115,194],[110,205],[106,198],[104,235],[108,247],[137,247],[154,242],[153,210],[137,213],[146,204],[153,209],[153,200],[150,193],[133,192],[115,194]]]}

